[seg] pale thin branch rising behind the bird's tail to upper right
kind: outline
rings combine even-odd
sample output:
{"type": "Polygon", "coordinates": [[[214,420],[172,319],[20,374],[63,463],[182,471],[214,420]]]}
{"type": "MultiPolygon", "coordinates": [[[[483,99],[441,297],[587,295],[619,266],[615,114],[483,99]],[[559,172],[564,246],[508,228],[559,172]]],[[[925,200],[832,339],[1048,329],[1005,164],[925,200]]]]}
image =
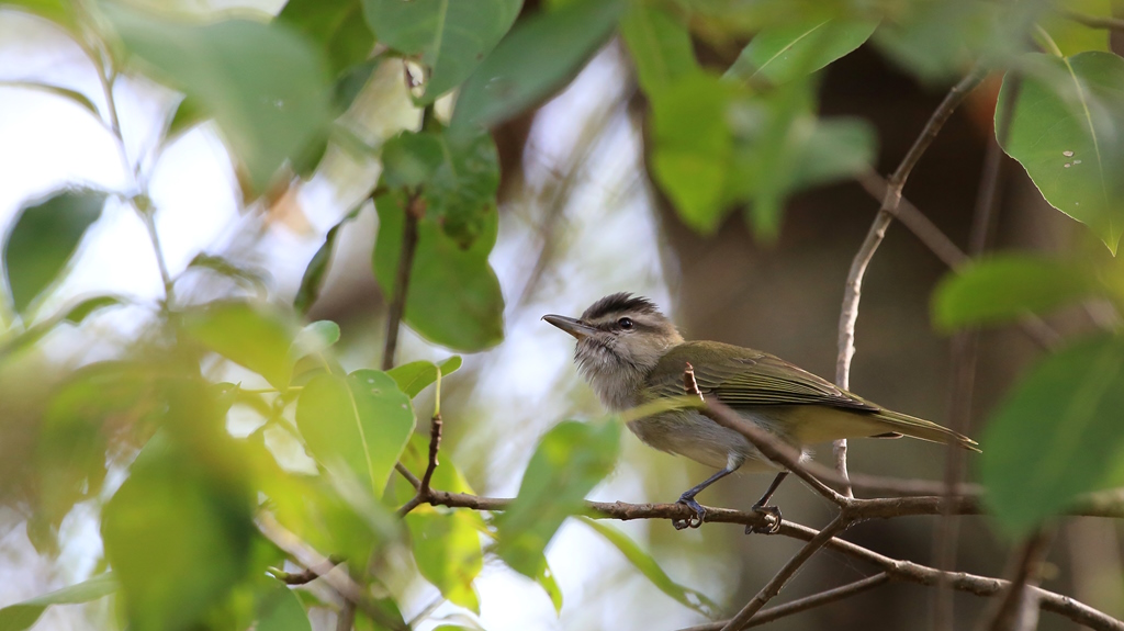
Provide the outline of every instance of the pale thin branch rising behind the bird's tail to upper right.
{"type": "MultiPolygon", "coordinates": [[[[867,274],[867,267],[874,257],[874,252],[886,236],[886,229],[901,203],[901,189],[905,188],[906,180],[914,166],[921,159],[925,150],[936,138],[937,132],[944,126],[949,117],[957,107],[964,100],[964,97],[972,91],[985,77],[986,72],[977,66],[972,68],[968,76],[952,86],[949,94],[936,108],[933,115],[922,129],[921,136],[914,141],[913,147],[901,158],[897,170],[890,175],[886,194],[882,198],[882,205],[874,217],[867,238],[863,240],[859,252],[855,253],[851,262],[851,269],[847,272],[846,285],[843,291],[843,307],[840,310],[839,326],[839,356],[835,362],[835,384],[843,390],[850,388],[851,382],[851,359],[854,357],[854,327],[859,320],[859,300],[862,295],[862,278],[867,274]]],[[[835,470],[844,479],[846,472],[846,439],[836,440],[834,443],[835,470]]],[[[851,495],[851,488],[844,488],[844,495],[851,495]]]]}

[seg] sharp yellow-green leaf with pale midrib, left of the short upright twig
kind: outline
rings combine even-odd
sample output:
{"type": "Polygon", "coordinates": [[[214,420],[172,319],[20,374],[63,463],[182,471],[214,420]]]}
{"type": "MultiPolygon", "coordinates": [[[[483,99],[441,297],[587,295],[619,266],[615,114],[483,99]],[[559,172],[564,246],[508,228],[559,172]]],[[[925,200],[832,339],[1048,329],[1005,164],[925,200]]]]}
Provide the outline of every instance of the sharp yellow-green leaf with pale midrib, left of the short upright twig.
{"type": "Polygon", "coordinates": [[[312,456],[325,466],[345,465],[374,497],[382,496],[414,423],[410,397],[379,371],[317,376],[297,401],[297,427],[312,456]]]}

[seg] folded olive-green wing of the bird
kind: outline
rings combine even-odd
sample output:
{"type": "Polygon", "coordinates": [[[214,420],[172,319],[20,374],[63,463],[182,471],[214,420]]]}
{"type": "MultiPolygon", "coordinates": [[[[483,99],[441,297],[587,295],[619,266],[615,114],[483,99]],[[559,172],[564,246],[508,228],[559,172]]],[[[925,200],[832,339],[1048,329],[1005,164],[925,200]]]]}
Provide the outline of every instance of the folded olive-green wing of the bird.
{"type": "Polygon", "coordinates": [[[828,405],[863,412],[881,410],[779,357],[714,341],[686,342],[664,355],[649,376],[649,392],[656,397],[683,394],[688,363],[695,367],[699,390],[731,408],[828,405]]]}

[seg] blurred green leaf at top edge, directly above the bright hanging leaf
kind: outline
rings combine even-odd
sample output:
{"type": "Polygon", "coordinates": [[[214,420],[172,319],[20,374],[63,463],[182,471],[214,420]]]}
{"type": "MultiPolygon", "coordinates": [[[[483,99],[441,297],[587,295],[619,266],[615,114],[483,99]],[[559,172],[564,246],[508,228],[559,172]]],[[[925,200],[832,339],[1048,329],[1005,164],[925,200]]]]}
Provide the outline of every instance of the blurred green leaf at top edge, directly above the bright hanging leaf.
{"type": "Polygon", "coordinates": [[[636,65],[641,88],[649,98],[698,72],[690,31],[662,7],[629,2],[620,19],[620,35],[636,65]]]}

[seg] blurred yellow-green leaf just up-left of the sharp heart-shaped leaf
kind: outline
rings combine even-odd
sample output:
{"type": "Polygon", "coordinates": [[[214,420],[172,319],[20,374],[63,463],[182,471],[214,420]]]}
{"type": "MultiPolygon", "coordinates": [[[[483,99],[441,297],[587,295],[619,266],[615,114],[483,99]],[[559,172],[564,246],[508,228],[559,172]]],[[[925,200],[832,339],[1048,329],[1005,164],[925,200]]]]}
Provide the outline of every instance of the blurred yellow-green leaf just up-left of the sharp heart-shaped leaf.
{"type": "Polygon", "coordinates": [[[183,330],[235,364],[284,390],[292,375],[293,331],[277,311],[246,302],[212,302],[183,313],[183,330]]]}

